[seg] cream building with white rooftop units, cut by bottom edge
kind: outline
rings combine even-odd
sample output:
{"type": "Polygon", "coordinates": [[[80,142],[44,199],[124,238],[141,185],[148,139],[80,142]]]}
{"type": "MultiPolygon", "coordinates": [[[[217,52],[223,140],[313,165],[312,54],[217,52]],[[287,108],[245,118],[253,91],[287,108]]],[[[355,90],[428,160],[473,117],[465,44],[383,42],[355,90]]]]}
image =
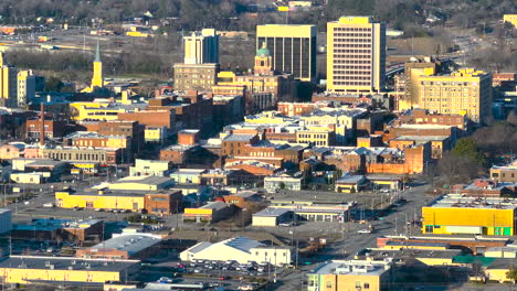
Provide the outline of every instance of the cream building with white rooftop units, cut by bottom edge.
{"type": "Polygon", "coordinates": [[[390,265],[383,261],[333,260],[308,273],[308,291],[389,290],[390,265]]]}

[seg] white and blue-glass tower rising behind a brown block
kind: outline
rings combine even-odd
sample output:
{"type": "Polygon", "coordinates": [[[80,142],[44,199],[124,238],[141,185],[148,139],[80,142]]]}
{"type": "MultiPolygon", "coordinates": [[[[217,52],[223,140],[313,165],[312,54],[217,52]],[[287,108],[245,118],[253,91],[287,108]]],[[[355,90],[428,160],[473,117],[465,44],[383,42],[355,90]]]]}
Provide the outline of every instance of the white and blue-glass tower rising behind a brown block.
{"type": "Polygon", "coordinates": [[[201,32],[192,32],[183,36],[184,64],[218,64],[219,63],[219,35],[214,29],[204,29],[201,32]]]}

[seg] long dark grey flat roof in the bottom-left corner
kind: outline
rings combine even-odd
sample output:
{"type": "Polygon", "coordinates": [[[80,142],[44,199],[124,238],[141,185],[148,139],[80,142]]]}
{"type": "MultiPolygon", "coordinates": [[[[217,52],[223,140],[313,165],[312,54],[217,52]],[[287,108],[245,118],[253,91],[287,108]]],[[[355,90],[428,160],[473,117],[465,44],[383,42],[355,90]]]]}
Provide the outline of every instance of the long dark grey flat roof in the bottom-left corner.
{"type": "Polygon", "coordinates": [[[0,268],[108,271],[119,272],[138,263],[138,260],[81,259],[74,257],[10,256],[0,260],[0,268]]]}

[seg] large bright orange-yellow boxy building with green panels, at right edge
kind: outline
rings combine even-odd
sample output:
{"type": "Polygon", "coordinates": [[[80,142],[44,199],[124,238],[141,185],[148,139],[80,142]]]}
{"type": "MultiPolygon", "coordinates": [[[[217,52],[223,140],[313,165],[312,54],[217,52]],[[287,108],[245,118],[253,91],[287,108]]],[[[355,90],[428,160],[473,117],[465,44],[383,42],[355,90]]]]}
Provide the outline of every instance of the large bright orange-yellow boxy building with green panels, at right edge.
{"type": "Polygon", "coordinates": [[[422,233],[513,236],[516,207],[515,200],[446,195],[422,207],[422,233]]]}

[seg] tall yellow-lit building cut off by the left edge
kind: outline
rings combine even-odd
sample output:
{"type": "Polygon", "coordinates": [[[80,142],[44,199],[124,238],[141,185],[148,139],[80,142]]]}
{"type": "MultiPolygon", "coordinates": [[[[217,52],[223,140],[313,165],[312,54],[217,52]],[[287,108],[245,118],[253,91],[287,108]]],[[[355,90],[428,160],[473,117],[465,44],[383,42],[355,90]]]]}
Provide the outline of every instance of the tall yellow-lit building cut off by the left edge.
{"type": "Polygon", "coordinates": [[[9,66],[0,53],[0,106],[18,106],[18,69],[9,66]]]}

